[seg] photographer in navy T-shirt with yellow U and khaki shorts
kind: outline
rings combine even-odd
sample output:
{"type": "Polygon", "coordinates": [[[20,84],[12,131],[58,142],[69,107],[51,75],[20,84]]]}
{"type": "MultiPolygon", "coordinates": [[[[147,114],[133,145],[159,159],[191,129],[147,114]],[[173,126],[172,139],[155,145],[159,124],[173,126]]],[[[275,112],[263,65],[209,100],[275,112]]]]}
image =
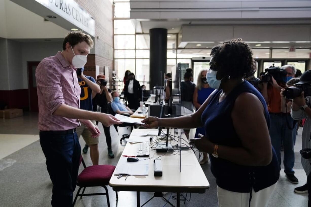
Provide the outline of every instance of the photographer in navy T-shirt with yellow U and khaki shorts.
{"type": "MultiPolygon", "coordinates": [[[[84,68],[77,69],[78,83],[81,87],[80,95],[80,109],[87,111],[93,111],[92,93],[99,93],[100,87],[95,83],[95,79],[92,76],[85,76],[83,74],[84,68]]],[[[96,122],[91,120],[95,125],[96,122]]],[[[97,128],[97,126],[96,126],[97,128]]],[[[99,136],[92,137],[91,131],[86,127],[84,123],[81,123],[80,127],[77,127],[77,136],[80,138],[82,135],[86,145],[90,146],[90,156],[93,165],[98,165],[99,151],[98,143],[99,136]]]]}

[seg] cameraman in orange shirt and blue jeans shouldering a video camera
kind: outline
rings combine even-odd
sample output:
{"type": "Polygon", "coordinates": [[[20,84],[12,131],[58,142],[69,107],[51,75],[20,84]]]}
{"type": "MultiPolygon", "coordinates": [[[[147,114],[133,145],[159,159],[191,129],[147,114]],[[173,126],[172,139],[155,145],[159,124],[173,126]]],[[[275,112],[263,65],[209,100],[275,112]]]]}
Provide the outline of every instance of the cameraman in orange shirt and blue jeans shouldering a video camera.
{"type": "Polygon", "coordinates": [[[295,76],[296,69],[291,65],[281,68],[267,68],[265,75],[261,76],[262,96],[267,102],[268,111],[271,118],[269,130],[271,143],[276,151],[276,155],[281,166],[281,142],[284,145],[284,172],[291,183],[298,183],[293,170],[295,164],[294,137],[295,130],[288,120],[291,119],[290,113],[283,113],[281,110],[281,90],[286,87],[285,83],[295,76]]]}

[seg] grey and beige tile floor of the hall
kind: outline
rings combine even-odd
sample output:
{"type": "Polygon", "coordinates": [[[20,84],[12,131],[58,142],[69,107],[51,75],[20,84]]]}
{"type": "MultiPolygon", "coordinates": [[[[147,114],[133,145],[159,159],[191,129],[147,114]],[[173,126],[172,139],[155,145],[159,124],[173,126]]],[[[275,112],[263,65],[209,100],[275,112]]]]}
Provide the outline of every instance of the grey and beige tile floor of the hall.
{"type": "MultiPolygon", "coordinates": [[[[45,158],[38,140],[37,130],[38,115],[36,113],[25,113],[23,117],[0,120],[0,207],[47,207],[50,206],[52,195],[52,183],[46,170],[45,158]]],[[[99,126],[103,131],[102,126],[99,126]]],[[[114,159],[107,157],[107,146],[104,133],[100,136],[100,163],[116,165],[122,153],[124,145],[120,145],[118,134],[111,127],[113,140],[114,159]]],[[[119,133],[125,133],[127,129],[119,128],[119,133]]],[[[267,207],[306,207],[308,194],[295,194],[294,188],[306,182],[306,175],[300,163],[299,150],[301,149],[301,132],[297,137],[295,145],[295,175],[299,179],[299,184],[294,185],[286,180],[283,170],[277,183],[276,190],[272,194],[267,207]]],[[[84,146],[84,140],[80,139],[80,144],[84,146]]],[[[87,165],[91,165],[89,152],[83,154],[87,165]]],[[[284,168],[284,167],[283,167],[284,168]]],[[[81,167],[82,169],[82,167],[81,167]]],[[[211,174],[210,165],[202,165],[202,169],[210,182],[211,187],[204,194],[191,194],[190,202],[181,206],[195,207],[217,207],[217,194],[215,179],[211,174]]],[[[119,192],[119,200],[115,200],[115,193],[110,187],[109,197],[112,207],[135,207],[135,192],[119,192]]],[[[77,189],[76,189],[77,191],[77,189]]],[[[102,192],[101,188],[89,188],[86,192],[102,192]]],[[[76,192],[74,192],[74,195],[76,192]]],[[[141,193],[141,203],[152,197],[152,193],[141,193]]],[[[175,200],[173,194],[167,193],[165,197],[173,204],[175,200]]],[[[189,195],[187,197],[189,199],[189,195]]],[[[159,206],[165,205],[165,201],[160,198],[153,199],[145,205],[159,206]]],[[[105,196],[88,196],[78,198],[76,207],[97,207],[107,206],[105,196]]],[[[169,205],[166,205],[169,206],[169,205]]]]}

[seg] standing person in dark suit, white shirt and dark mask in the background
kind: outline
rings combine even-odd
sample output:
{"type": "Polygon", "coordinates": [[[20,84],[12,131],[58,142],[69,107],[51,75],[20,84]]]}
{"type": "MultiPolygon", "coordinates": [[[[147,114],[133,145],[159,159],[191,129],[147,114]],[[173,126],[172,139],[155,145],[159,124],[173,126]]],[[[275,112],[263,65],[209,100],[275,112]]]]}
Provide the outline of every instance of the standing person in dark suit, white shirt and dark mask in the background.
{"type": "Polygon", "coordinates": [[[124,96],[128,100],[128,107],[136,110],[142,100],[142,89],[139,82],[135,79],[134,73],[129,75],[129,80],[125,82],[124,96]]]}

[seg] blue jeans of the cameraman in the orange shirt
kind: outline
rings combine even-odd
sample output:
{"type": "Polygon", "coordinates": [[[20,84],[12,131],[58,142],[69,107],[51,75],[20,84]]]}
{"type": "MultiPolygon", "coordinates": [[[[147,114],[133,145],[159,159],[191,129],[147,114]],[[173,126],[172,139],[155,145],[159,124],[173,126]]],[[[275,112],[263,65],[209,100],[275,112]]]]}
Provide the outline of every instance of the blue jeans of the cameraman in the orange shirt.
{"type": "Polygon", "coordinates": [[[281,141],[284,146],[284,172],[294,174],[295,153],[294,145],[296,141],[296,126],[293,128],[293,119],[290,114],[270,114],[270,137],[271,143],[276,151],[276,156],[281,166],[281,141]],[[288,126],[290,125],[290,126],[288,126]],[[293,128],[293,129],[290,129],[293,128]],[[295,136],[294,136],[295,133],[295,136]]]}

